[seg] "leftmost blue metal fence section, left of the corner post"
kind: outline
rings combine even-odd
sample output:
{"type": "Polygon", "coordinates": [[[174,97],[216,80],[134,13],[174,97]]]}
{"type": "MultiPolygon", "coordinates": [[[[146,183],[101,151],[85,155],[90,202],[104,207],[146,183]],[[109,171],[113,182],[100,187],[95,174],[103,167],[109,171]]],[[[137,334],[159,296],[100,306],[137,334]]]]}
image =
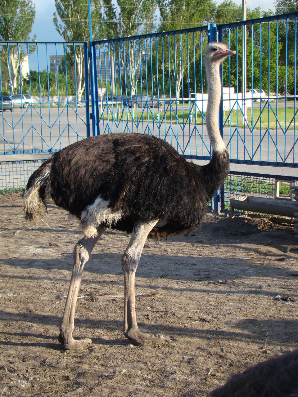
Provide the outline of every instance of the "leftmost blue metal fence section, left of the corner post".
{"type": "Polygon", "coordinates": [[[55,152],[90,134],[87,43],[1,42],[0,54],[0,154],[55,152]]]}

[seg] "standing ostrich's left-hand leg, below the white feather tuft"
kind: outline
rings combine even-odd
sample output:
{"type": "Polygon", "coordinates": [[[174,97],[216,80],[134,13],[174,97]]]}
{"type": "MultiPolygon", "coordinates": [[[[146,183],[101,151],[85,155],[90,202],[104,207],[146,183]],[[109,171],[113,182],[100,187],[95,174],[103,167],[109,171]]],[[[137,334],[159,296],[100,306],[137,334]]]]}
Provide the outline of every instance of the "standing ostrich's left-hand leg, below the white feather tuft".
{"type": "Polygon", "coordinates": [[[58,341],[69,350],[81,349],[91,343],[91,339],[89,338],[76,340],[72,337],[72,332],[74,331],[75,305],[77,303],[77,294],[79,292],[85,263],[88,262],[89,255],[91,255],[97,240],[101,237],[104,230],[104,227],[97,229],[98,235],[96,237],[88,239],[83,237],[77,242],[74,248],[74,269],[72,271],[72,278],[70,280],[66,304],[60,324],[60,335],[58,336],[58,341]]]}

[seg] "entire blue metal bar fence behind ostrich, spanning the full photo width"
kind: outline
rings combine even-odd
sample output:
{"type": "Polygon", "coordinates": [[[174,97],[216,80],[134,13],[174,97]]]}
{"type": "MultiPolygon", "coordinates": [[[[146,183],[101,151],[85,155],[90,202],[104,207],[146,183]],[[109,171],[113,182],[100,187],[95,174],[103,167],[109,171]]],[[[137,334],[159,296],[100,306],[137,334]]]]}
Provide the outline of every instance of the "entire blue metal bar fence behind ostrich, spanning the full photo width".
{"type": "MultiPolygon", "coordinates": [[[[138,132],[186,158],[209,160],[204,53],[219,40],[236,50],[221,69],[219,111],[231,162],[296,168],[297,17],[90,43],[1,42],[0,154],[55,152],[90,135],[138,132]]],[[[225,208],[225,196],[223,187],[213,205],[225,208]]]]}

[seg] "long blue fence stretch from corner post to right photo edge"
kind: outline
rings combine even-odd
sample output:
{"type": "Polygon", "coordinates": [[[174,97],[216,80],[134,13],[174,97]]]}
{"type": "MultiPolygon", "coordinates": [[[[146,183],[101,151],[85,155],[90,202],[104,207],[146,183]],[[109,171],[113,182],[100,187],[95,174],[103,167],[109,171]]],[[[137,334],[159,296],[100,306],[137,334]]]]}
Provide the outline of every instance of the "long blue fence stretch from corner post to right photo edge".
{"type": "Polygon", "coordinates": [[[231,162],[297,167],[297,16],[292,13],[93,42],[93,59],[101,64],[98,69],[94,63],[93,133],[157,135],[187,158],[209,159],[202,54],[207,42],[218,37],[236,50],[236,57],[224,62],[219,114],[231,162]],[[248,30],[248,80],[243,98],[242,26],[248,30]],[[100,97],[98,92],[105,89],[108,95],[100,97]]]}

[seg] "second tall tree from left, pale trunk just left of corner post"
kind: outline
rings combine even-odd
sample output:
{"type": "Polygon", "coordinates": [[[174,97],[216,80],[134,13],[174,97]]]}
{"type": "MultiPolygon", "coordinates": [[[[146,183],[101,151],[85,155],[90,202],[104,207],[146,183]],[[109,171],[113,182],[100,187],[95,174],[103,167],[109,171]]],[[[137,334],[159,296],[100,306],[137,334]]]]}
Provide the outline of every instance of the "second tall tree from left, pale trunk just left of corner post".
{"type": "MultiPolygon", "coordinates": [[[[56,11],[53,23],[58,33],[68,42],[89,41],[88,0],[55,0],[56,11]],[[61,23],[58,22],[58,17],[61,23]]],[[[104,37],[101,14],[101,0],[91,0],[92,39],[104,37]]],[[[82,45],[68,46],[68,53],[73,54],[76,61],[77,100],[81,100],[85,90],[84,50],[82,45]]],[[[88,60],[89,64],[89,60],[88,60]]]]}

